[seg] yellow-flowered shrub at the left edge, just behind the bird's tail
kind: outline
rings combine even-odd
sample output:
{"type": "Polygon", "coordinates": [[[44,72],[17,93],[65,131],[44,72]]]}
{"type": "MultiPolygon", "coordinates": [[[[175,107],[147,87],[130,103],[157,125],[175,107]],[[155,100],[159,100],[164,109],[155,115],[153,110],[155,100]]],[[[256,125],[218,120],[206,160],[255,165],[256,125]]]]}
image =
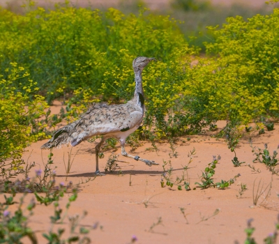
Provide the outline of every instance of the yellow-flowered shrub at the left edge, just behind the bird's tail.
{"type": "Polygon", "coordinates": [[[38,91],[36,82],[29,79],[27,85],[20,83],[20,79],[29,74],[23,73],[24,68],[17,67],[16,63],[11,65],[8,79],[0,80],[0,176],[3,181],[22,172],[24,148],[45,136],[44,125],[38,118],[45,114],[47,104],[39,95],[30,99],[31,94],[38,91]]]}

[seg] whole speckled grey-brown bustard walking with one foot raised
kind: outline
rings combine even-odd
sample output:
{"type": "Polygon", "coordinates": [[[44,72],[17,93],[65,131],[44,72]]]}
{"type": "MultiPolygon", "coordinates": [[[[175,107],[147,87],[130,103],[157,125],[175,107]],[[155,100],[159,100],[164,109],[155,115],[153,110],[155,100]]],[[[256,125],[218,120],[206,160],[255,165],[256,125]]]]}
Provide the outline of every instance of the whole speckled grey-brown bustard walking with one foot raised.
{"type": "Polygon", "coordinates": [[[135,94],[132,100],[121,105],[97,104],[90,107],[80,119],[70,123],[60,130],[57,130],[53,137],[42,149],[50,149],[70,142],[77,146],[82,141],[96,135],[103,135],[103,138],[96,146],[96,175],[100,174],[98,165],[98,154],[100,146],[110,137],[119,139],[121,143],[121,154],[128,158],[140,160],[146,165],[158,165],[154,161],[140,158],[138,155],[129,155],[125,151],[125,142],[128,135],[139,128],[144,116],[144,90],[142,89],[142,70],[153,58],[138,56],[133,60],[135,72],[135,94]]]}

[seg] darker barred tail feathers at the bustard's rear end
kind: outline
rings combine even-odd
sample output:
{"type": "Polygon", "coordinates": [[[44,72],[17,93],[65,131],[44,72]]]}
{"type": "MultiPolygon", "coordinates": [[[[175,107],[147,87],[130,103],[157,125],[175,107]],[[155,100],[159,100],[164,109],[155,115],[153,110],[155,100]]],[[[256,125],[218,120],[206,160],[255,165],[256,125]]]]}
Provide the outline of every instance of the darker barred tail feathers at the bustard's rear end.
{"type": "Polygon", "coordinates": [[[63,144],[67,144],[70,142],[73,138],[71,137],[71,130],[73,128],[73,124],[69,124],[61,128],[60,130],[57,130],[50,141],[47,143],[43,144],[41,146],[41,149],[50,149],[54,147],[61,146],[63,144]]]}

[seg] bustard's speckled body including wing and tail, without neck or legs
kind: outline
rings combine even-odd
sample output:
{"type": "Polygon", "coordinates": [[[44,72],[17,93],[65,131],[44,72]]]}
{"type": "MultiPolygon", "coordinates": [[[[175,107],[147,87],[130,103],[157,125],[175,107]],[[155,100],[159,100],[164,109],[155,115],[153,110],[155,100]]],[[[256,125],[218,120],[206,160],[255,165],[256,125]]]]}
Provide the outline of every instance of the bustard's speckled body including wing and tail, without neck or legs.
{"type": "Polygon", "coordinates": [[[95,135],[110,135],[140,126],[143,110],[133,102],[122,105],[98,104],[90,107],[77,121],[56,131],[41,148],[67,144],[72,146],[95,135]]]}

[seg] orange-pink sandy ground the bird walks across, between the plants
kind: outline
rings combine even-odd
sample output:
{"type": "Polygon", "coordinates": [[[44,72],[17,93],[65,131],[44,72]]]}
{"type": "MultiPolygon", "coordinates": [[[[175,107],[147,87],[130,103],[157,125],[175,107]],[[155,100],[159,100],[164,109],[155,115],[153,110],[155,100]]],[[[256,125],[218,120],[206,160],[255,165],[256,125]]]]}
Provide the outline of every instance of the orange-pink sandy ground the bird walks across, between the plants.
{"type": "MultiPolygon", "coordinates": [[[[56,107],[58,110],[59,107],[56,107]]],[[[218,128],[225,125],[224,121],[218,122],[218,128]]],[[[252,137],[253,144],[264,148],[268,144],[270,151],[275,150],[279,144],[279,124],[275,126],[276,130],[266,131],[264,135],[255,135],[252,137]]],[[[255,227],[255,236],[257,243],[262,243],[264,238],[273,232],[274,224],[279,211],[279,176],[271,176],[265,165],[260,163],[252,164],[255,156],[252,155],[248,144],[248,138],[241,139],[236,153],[240,161],[245,161],[241,167],[234,167],[232,158],[234,154],[229,151],[227,144],[223,139],[215,139],[209,135],[180,137],[176,143],[177,158],[169,158],[171,150],[169,144],[158,144],[158,154],[155,151],[146,151],[150,148],[149,142],[133,152],[134,155],[140,155],[142,158],[154,160],[160,165],[148,167],[143,162],[119,156],[118,162],[122,174],[119,170],[114,174],[98,176],[94,181],[89,181],[80,185],[80,192],[77,200],[70,206],[68,215],[82,215],[84,210],[88,215],[81,224],[93,226],[98,222],[98,228],[92,230],[89,234],[92,243],[130,243],[133,235],[137,236],[136,243],[243,243],[246,238],[244,229],[246,222],[253,218],[255,227]],[[184,142],[183,142],[184,141],[184,142]],[[188,152],[196,149],[196,155],[188,169],[190,178],[190,187],[195,188],[195,182],[199,182],[199,176],[202,170],[212,161],[213,155],[220,155],[220,163],[216,167],[214,182],[220,182],[221,179],[229,180],[236,174],[241,174],[236,183],[232,184],[226,190],[209,188],[201,190],[177,190],[176,187],[161,188],[161,174],[163,173],[163,160],[171,160],[174,167],[174,178],[181,176],[182,165],[188,163],[188,152]],[[259,172],[252,171],[247,164],[255,166],[259,172]],[[129,184],[131,178],[131,185],[129,184]],[[260,197],[259,206],[253,206],[253,183],[255,187],[262,180],[264,188],[271,183],[271,192],[266,201],[260,204],[266,192],[260,197]],[[241,198],[239,195],[240,184],[246,184],[248,190],[244,192],[241,198]],[[144,204],[145,203],[145,204],[144,204]],[[145,206],[146,205],[146,206],[145,206]],[[183,217],[180,208],[185,208],[187,220],[183,217]],[[201,221],[213,215],[219,208],[218,215],[201,221]],[[153,223],[162,219],[162,224],[150,228],[153,223]],[[100,227],[101,226],[101,227],[100,227]]],[[[41,152],[40,146],[45,143],[37,142],[32,144],[28,152],[24,154],[24,159],[29,158],[29,162],[36,162],[36,169],[43,167],[43,159],[47,161],[48,151],[41,152]]],[[[78,183],[86,181],[86,178],[93,177],[95,171],[95,143],[83,142],[77,148],[73,148],[73,154],[80,150],[75,157],[73,166],[68,176],[68,181],[78,183]]],[[[67,183],[65,168],[63,165],[63,154],[65,157],[69,147],[55,149],[54,166],[57,167],[57,181],[67,183]]],[[[127,146],[126,151],[130,151],[127,146]]],[[[100,171],[104,172],[107,158],[113,150],[104,151],[105,158],[100,159],[100,171]]],[[[121,153],[119,144],[114,153],[121,153]]],[[[67,158],[67,157],[66,157],[67,158]]],[[[33,195],[28,195],[25,203],[28,204],[33,195]]],[[[0,196],[1,198],[3,197],[0,196]]],[[[61,207],[65,209],[68,195],[61,200],[61,207]]],[[[16,208],[17,204],[11,206],[16,208]]],[[[42,237],[43,232],[47,232],[51,227],[50,216],[54,213],[54,206],[41,206],[37,204],[34,209],[34,215],[29,223],[33,229],[36,229],[39,243],[47,243],[42,237]]],[[[58,224],[58,227],[68,227],[68,219],[64,224],[58,224]]],[[[65,234],[66,238],[67,234],[65,234]]],[[[24,241],[24,243],[29,243],[24,241]]]]}

